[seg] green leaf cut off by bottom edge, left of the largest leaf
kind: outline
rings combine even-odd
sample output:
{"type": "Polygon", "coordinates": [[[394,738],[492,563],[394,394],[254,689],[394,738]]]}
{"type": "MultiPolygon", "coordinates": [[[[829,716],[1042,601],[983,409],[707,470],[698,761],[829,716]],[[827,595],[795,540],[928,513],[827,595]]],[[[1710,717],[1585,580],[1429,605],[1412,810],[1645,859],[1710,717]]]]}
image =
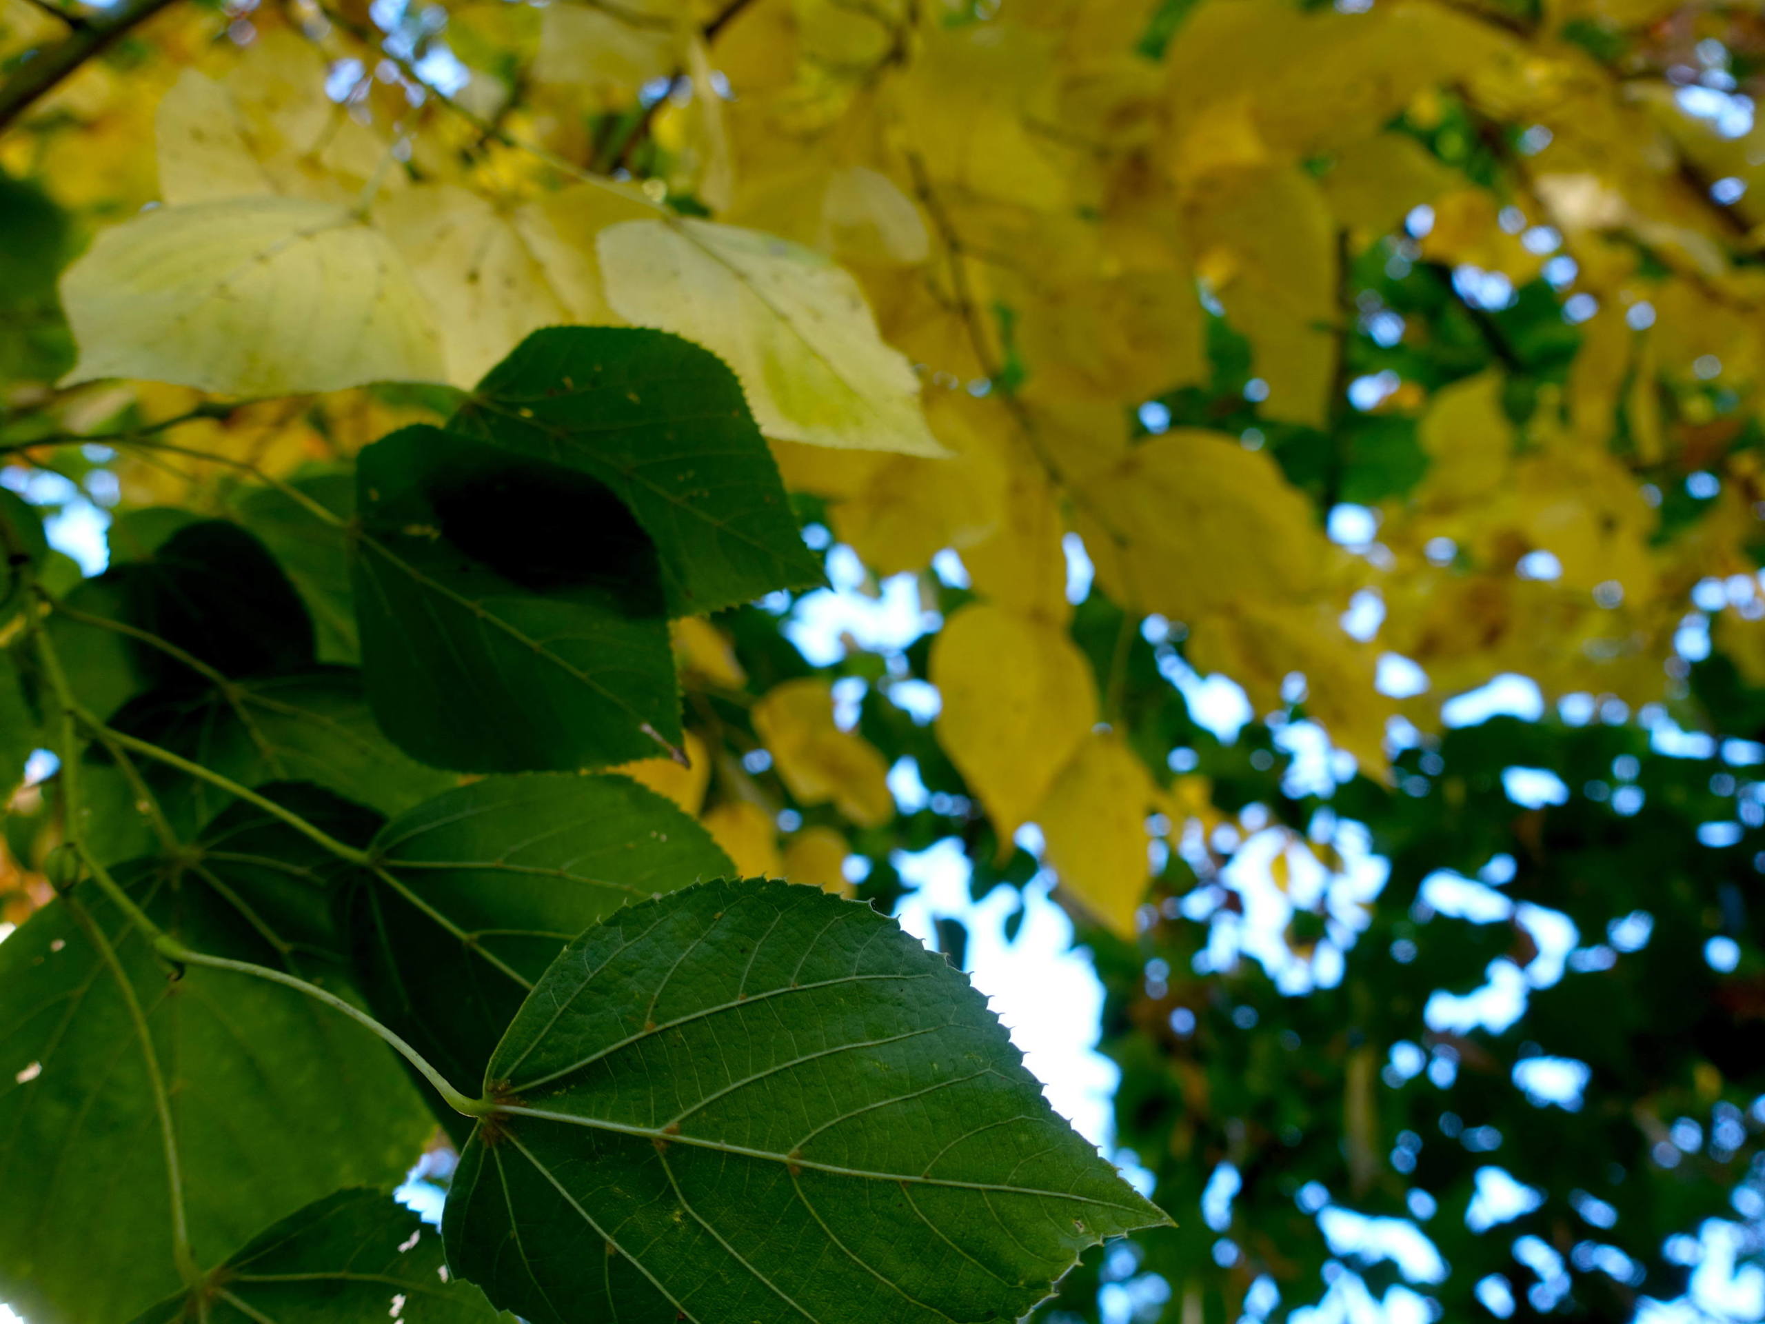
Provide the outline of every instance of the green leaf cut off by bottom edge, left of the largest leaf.
{"type": "MultiPolygon", "coordinates": [[[[214,1294],[180,1292],[134,1324],[337,1324],[406,1319],[492,1324],[471,1283],[450,1282],[441,1237],[383,1192],[341,1190],[314,1200],[219,1268],[214,1294]]],[[[507,1319],[507,1315],[503,1317],[507,1319]]]]}

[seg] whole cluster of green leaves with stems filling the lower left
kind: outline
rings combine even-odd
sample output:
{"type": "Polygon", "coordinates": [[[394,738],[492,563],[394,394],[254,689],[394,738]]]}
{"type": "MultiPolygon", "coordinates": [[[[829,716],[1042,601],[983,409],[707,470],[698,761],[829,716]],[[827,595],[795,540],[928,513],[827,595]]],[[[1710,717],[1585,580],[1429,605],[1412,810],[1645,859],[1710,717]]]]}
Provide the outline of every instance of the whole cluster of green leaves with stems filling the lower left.
{"type": "Polygon", "coordinates": [[[708,351],[538,332],[65,588],[0,521],[9,756],[60,757],[0,944],[32,1320],[1015,1319],[1163,1220],[943,957],[590,771],[683,757],[671,618],[819,579],[708,351]],[[438,1117],[445,1266],[383,1195],[438,1117]]]}

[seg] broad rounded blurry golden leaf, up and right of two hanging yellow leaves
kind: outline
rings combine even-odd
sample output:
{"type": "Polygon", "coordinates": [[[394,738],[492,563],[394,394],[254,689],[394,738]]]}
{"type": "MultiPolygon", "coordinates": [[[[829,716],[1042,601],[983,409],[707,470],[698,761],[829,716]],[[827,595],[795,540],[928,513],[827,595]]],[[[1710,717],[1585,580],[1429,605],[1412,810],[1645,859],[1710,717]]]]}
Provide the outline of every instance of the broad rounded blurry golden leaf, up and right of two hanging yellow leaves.
{"type": "Polygon", "coordinates": [[[1128,450],[1073,514],[1108,595],[1179,621],[1304,597],[1329,554],[1311,503],[1267,452],[1198,429],[1128,450]]]}

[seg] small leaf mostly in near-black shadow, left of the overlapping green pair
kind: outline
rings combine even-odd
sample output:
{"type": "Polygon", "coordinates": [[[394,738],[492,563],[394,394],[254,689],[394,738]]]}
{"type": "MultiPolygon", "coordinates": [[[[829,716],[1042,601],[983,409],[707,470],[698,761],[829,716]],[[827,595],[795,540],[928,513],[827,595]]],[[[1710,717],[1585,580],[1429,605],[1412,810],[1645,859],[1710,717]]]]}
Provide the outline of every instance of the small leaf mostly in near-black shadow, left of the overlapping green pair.
{"type": "MultiPolygon", "coordinates": [[[[65,604],[157,636],[226,676],[312,666],[312,621],[293,586],[254,537],[226,521],[175,528],[145,556],[78,584],[65,604]]],[[[164,650],[67,614],[49,618],[49,637],[74,692],[99,718],[141,690],[208,683],[164,650]]]]}

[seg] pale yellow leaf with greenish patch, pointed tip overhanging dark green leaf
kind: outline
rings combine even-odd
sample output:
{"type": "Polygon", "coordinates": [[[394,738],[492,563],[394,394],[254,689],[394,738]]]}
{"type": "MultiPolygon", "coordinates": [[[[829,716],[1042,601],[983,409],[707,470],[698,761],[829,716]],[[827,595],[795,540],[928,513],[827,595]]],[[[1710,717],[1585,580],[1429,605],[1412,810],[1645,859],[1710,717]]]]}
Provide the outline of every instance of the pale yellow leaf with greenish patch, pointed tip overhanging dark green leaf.
{"type": "Polygon", "coordinates": [[[907,360],[877,335],[852,277],[821,254],[706,221],[625,221],[597,247],[612,309],[717,353],[768,436],[944,454],[907,360]]]}

